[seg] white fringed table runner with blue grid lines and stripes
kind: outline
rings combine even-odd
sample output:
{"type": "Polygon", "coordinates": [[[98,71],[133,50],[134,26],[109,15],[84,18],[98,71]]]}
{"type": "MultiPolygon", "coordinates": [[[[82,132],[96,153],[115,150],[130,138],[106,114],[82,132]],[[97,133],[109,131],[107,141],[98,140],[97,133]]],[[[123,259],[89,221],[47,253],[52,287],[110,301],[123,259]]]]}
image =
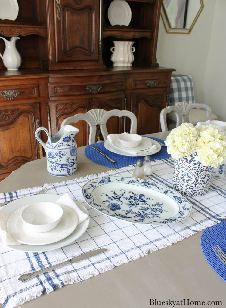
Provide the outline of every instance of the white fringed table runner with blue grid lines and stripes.
{"type": "MultiPolygon", "coordinates": [[[[172,158],[154,161],[153,174],[146,180],[171,187],[173,166],[172,158]]],[[[129,165],[103,172],[98,176],[131,177],[133,171],[134,166],[129,165]]],[[[187,198],[191,202],[192,210],[190,216],[183,221],[169,225],[147,225],[109,217],[86,205],[81,193],[82,186],[96,176],[90,175],[44,185],[48,187],[50,194],[63,195],[68,192],[71,197],[88,209],[90,224],[77,241],[60,249],[41,253],[22,252],[0,245],[0,302],[3,307],[18,306],[44,292],[50,293],[55,288],[80,282],[114,269],[116,266],[143,257],[149,252],[181,241],[197,231],[216,225],[226,217],[226,183],[219,179],[212,180],[210,190],[205,196],[187,198]],[[107,251],[90,259],[41,274],[25,283],[18,281],[21,274],[54,265],[97,248],[106,248],[107,251]]],[[[1,193],[0,202],[16,196],[30,195],[38,190],[40,187],[1,193]]],[[[1,210],[3,209],[4,207],[1,210]]]]}

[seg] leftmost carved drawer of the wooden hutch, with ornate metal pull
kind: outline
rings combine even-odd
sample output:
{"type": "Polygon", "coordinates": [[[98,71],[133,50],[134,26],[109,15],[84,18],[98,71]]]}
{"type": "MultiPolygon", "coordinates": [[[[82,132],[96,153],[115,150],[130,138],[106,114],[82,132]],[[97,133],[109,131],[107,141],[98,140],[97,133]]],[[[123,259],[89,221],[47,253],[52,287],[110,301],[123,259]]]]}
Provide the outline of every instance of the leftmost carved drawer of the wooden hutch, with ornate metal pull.
{"type": "Polygon", "coordinates": [[[0,101],[39,97],[38,84],[0,86],[0,101]]]}

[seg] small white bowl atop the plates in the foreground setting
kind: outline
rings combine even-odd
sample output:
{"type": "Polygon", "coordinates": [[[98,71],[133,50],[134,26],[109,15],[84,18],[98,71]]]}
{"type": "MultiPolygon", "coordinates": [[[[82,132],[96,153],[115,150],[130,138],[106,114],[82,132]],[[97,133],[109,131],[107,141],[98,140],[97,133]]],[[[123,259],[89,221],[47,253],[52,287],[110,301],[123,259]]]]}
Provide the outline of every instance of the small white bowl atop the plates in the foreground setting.
{"type": "Polygon", "coordinates": [[[36,202],[21,212],[21,219],[31,231],[47,232],[54,229],[63,216],[63,209],[54,202],[36,202]]]}

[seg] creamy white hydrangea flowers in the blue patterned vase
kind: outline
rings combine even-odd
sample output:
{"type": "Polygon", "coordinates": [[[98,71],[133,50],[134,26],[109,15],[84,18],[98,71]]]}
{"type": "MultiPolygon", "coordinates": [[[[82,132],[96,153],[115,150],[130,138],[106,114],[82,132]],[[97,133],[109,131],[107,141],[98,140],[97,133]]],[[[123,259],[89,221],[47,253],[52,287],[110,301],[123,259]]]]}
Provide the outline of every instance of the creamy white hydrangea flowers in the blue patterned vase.
{"type": "Polygon", "coordinates": [[[204,166],[217,167],[226,161],[226,135],[216,127],[183,123],[171,131],[165,143],[173,158],[197,152],[204,166]]]}

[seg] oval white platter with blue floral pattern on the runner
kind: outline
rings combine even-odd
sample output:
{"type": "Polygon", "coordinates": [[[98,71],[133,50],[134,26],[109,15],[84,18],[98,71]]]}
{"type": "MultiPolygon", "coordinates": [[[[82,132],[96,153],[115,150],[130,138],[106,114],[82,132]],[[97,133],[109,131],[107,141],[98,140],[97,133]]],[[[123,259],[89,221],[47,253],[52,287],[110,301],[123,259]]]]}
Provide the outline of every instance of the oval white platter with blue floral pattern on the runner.
{"type": "Polygon", "coordinates": [[[191,204],[175,190],[133,177],[95,178],[84,184],[82,193],[92,208],[132,223],[170,224],[191,211],[191,204]]]}

